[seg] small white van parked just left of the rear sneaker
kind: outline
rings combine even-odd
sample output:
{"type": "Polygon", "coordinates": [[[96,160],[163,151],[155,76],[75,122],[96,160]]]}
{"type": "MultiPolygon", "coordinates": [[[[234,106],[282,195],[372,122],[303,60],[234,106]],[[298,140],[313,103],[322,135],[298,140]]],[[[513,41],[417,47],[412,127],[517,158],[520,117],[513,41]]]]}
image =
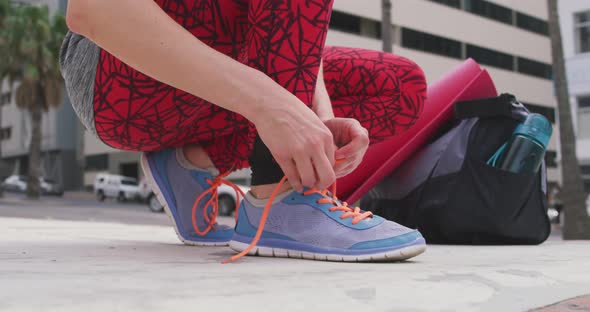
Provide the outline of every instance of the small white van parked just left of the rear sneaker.
{"type": "Polygon", "coordinates": [[[94,194],[99,201],[116,198],[120,202],[140,198],[137,179],[101,173],[94,179],[94,194]]]}

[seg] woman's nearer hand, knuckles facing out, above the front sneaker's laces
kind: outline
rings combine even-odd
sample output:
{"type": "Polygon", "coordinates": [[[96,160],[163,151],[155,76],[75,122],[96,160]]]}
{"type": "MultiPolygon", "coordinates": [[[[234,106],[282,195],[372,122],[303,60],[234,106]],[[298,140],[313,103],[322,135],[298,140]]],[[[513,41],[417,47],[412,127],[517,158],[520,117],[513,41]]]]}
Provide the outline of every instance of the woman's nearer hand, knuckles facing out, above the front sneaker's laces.
{"type": "Polygon", "coordinates": [[[295,96],[266,101],[271,104],[252,122],[291,186],[298,192],[329,187],[336,180],[330,130],[295,96]]]}

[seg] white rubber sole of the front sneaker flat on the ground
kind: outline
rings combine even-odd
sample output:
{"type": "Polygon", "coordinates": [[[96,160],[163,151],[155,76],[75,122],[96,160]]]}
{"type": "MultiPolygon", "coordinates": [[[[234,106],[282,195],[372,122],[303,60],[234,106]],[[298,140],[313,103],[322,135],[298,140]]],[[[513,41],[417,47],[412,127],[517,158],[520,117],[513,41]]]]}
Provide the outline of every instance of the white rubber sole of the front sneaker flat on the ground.
{"type": "MultiPolygon", "coordinates": [[[[248,248],[248,244],[231,241],[229,247],[237,252],[242,252],[248,248]]],[[[392,250],[384,253],[376,253],[370,255],[331,255],[331,254],[317,254],[304,251],[280,249],[271,247],[256,246],[248,252],[249,256],[261,257],[276,257],[276,258],[294,258],[306,260],[319,261],[334,261],[334,262],[396,262],[408,260],[416,257],[426,251],[426,245],[414,245],[397,250],[392,250]]]]}

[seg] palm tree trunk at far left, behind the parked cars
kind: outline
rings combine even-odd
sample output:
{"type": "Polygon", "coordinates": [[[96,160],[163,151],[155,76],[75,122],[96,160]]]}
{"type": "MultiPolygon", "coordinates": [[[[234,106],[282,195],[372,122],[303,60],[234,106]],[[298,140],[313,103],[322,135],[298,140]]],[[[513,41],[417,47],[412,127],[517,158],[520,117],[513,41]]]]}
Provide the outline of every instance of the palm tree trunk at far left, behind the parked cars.
{"type": "MultiPolygon", "coordinates": [[[[43,93],[40,96],[41,101],[45,101],[43,93]]],[[[42,104],[42,103],[40,103],[42,104]]],[[[41,196],[41,185],[39,177],[41,176],[41,119],[43,105],[34,107],[31,110],[31,145],[29,152],[29,181],[27,182],[27,197],[30,199],[39,199],[41,196]]]]}

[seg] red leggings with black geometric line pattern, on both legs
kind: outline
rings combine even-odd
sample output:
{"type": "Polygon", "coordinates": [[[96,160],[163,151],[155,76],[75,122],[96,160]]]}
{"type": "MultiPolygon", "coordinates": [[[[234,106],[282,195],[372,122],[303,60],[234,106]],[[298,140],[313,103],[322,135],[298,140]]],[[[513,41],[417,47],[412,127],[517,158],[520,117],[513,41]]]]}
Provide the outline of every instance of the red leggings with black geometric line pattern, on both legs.
{"type": "MultiPolygon", "coordinates": [[[[264,72],[308,106],[323,60],[335,115],[359,120],[372,144],[405,131],[421,113],[426,82],[415,63],[382,52],[324,47],[332,0],[156,2],[201,41],[264,72]]],[[[244,117],[143,75],[104,50],[94,123],[99,137],[118,149],[198,143],[221,171],[247,167],[256,137],[244,117]]]]}

